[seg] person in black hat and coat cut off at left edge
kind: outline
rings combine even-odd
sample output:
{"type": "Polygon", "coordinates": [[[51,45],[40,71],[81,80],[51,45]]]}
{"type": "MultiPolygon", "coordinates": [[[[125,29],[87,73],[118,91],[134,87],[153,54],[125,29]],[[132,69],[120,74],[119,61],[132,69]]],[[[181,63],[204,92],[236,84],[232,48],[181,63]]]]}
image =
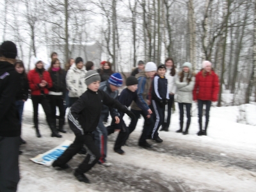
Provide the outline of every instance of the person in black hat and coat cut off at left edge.
{"type": "Polygon", "coordinates": [[[20,89],[14,63],[17,48],[6,41],[0,47],[0,191],[17,191],[19,182],[19,114],[15,96],[20,89]]]}

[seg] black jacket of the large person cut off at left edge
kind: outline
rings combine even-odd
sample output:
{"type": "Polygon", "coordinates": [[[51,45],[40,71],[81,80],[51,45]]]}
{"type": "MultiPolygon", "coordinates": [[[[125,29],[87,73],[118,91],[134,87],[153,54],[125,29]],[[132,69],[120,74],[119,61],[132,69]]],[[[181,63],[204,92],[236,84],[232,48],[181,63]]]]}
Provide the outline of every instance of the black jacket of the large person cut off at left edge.
{"type": "Polygon", "coordinates": [[[19,81],[14,65],[0,61],[0,136],[20,136],[19,114],[15,107],[19,81]]]}

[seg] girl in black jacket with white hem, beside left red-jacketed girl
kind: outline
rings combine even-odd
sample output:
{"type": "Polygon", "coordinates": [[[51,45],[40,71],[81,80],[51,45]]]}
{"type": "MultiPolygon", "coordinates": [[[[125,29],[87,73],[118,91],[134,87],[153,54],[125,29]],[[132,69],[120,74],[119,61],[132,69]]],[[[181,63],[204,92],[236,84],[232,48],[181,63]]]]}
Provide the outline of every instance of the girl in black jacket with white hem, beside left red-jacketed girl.
{"type": "Polygon", "coordinates": [[[60,60],[54,58],[51,62],[51,67],[48,72],[50,73],[52,79],[52,87],[49,88],[49,100],[51,105],[52,119],[54,119],[54,124],[56,125],[56,106],[59,108],[60,116],[58,131],[65,133],[63,125],[65,122],[65,107],[64,99],[66,92],[66,75],[67,72],[60,67],[60,60]]]}

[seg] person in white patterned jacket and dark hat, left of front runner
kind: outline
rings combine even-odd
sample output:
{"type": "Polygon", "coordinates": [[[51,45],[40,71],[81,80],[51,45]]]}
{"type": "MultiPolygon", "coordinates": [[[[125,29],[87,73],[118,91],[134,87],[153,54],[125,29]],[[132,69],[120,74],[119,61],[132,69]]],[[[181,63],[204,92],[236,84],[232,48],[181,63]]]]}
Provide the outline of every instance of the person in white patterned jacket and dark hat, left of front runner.
{"type": "MultiPolygon", "coordinates": [[[[76,65],[72,65],[67,72],[66,83],[68,89],[68,97],[70,98],[70,106],[86,91],[85,75],[87,70],[83,65],[83,59],[76,58],[76,65]]],[[[68,106],[68,107],[70,107],[68,106]]]]}

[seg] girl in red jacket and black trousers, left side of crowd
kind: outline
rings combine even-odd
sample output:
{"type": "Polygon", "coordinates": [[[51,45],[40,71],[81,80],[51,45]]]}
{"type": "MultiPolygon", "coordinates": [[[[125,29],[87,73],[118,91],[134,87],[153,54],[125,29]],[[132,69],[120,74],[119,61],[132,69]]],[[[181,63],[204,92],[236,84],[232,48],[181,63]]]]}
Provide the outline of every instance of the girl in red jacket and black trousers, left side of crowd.
{"type": "Polygon", "coordinates": [[[28,82],[29,88],[31,89],[31,100],[33,102],[36,136],[38,138],[41,137],[38,129],[38,104],[41,104],[46,115],[47,123],[52,131],[51,136],[61,138],[61,135],[58,134],[56,125],[54,125],[54,121],[52,120],[51,107],[47,99],[49,93],[48,89],[52,87],[51,76],[49,72],[44,69],[44,64],[41,60],[36,61],[35,65],[36,67],[28,73],[28,82]]]}

